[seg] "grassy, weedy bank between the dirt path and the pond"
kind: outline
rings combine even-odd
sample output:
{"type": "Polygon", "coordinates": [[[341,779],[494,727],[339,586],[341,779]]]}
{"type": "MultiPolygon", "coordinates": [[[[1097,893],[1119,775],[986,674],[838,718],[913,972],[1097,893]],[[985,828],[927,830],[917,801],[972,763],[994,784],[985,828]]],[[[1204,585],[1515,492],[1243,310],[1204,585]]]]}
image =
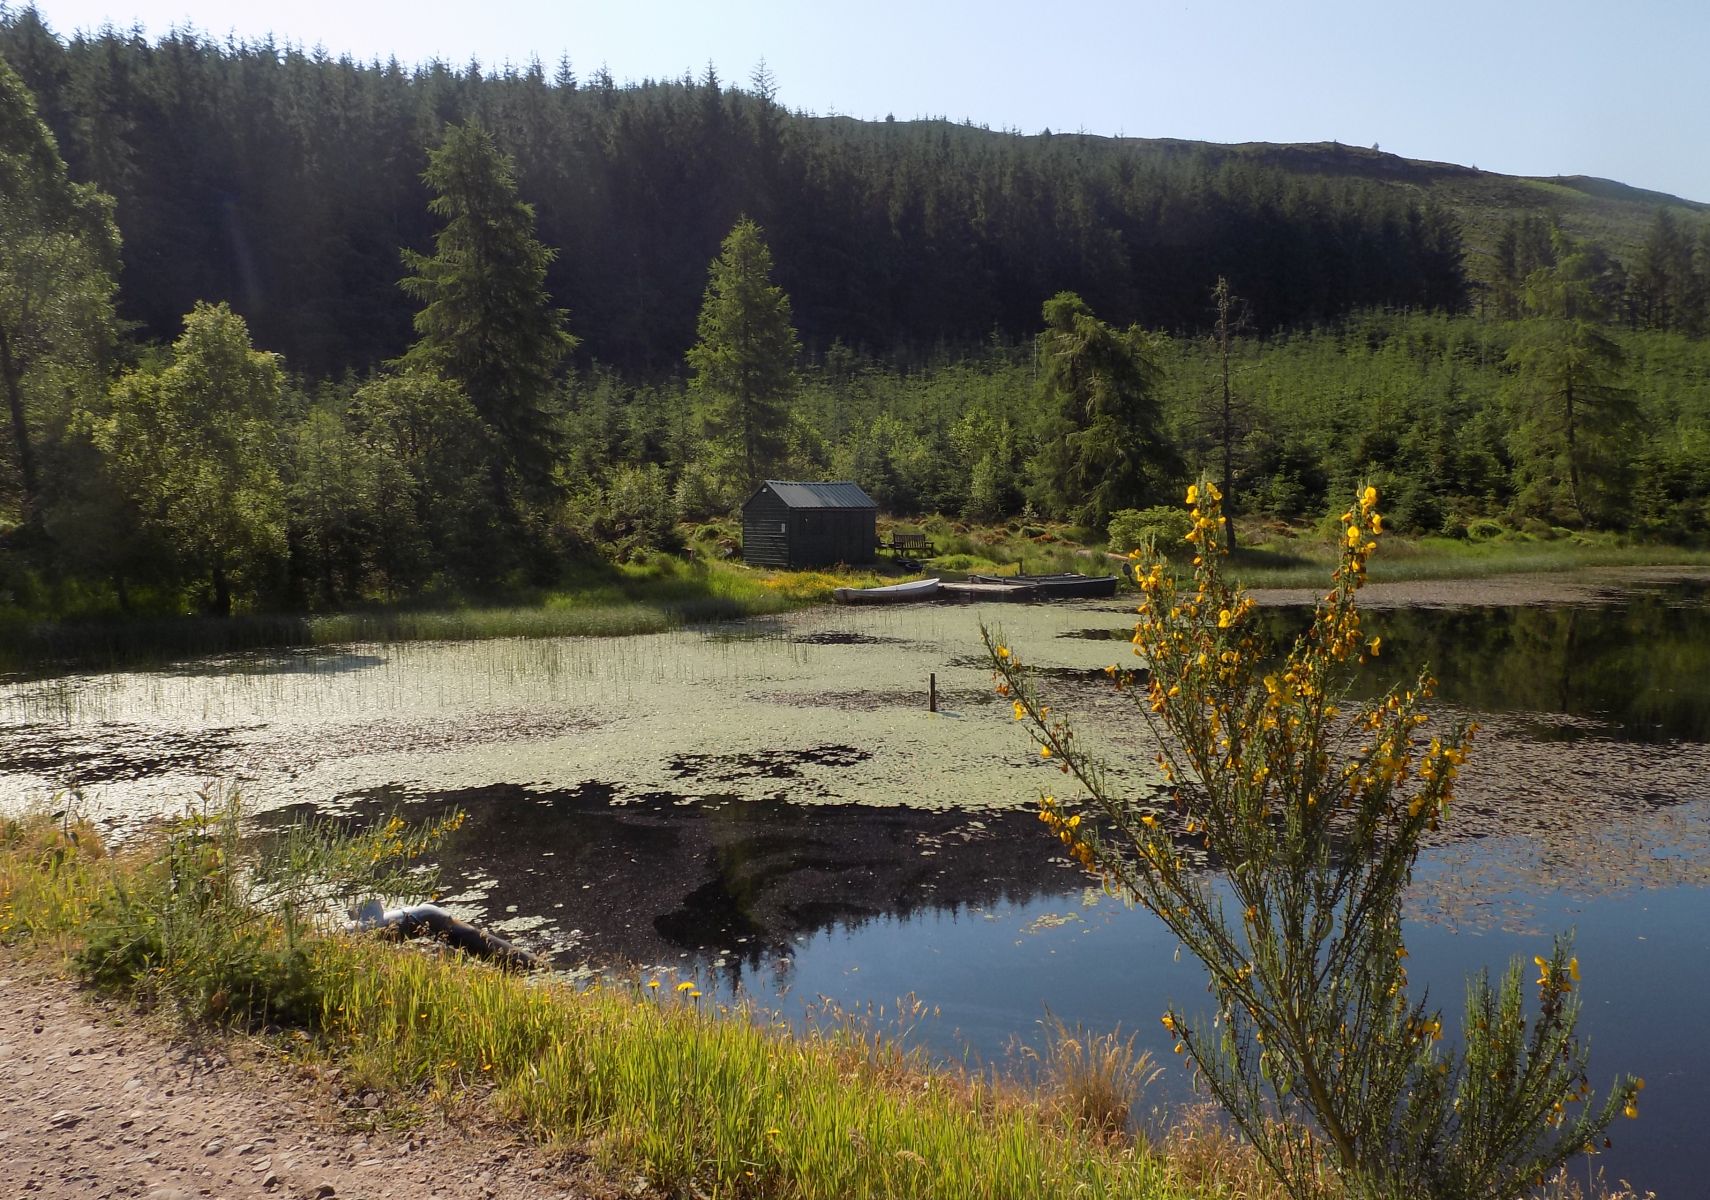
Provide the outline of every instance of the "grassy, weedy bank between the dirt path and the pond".
{"type": "Polygon", "coordinates": [[[296,1024],[364,1087],[491,1096],[537,1137],[670,1193],[1188,1195],[1146,1149],[834,1017],[792,1032],[669,981],[575,986],[316,932],[325,879],[386,870],[421,838],[393,822],[342,843],[308,831],[265,865],[236,821],[203,805],[120,858],[63,821],[5,822],[0,942],[68,949],[86,978],[193,1019],[296,1024]],[[289,862],[320,880],[279,884],[289,862]],[[287,894],[289,908],[255,906],[287,894]]]}

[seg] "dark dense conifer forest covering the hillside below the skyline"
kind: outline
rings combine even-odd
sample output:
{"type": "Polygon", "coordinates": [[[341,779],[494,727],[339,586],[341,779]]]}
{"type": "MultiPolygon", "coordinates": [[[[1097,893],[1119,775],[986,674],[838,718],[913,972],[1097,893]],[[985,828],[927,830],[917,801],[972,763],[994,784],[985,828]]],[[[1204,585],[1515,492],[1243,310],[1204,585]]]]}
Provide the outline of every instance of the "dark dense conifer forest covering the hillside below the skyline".
{"type": "Polygon", "coordinates": [[[1366,306],[1464,304],[1442,209],[1358,179],[947,121],[785,109],[770,75],[619,87],[605,72],[361,63],[176,31],[56,36],[0,14],[72,178],[116,202],[120,311],[164,342],[202,299],[294,371],[369,371],[410,344],[398,248],[436,226],[422,181],[446,125],[511,156],[578,366],[675,374],[706,262],[740,217],[768,232],[802,345],[898,364],[1031,337],[1074,291],[1118,325],[1204,326],[1241,275],[1269,328],[1366,306]]]}

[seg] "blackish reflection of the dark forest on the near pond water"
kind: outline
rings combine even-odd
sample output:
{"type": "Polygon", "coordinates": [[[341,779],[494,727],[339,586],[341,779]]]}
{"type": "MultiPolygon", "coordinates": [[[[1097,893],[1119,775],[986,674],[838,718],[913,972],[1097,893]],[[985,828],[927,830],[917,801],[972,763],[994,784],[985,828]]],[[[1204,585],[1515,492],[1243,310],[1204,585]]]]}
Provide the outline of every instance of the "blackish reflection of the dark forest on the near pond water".
{"type": "MultiPolygon", "coordinates": [[[[616,795],[598,783],[378,790],[321,815],[368,826],[393,810],[426,819],[462,809],[469,819],[441,853],[448,903],[525,933],[559,966],[722,959],[732,986],[814,933],[1081,887],[1026,810],[616,795]],[[532,928],[510,925],[513,913],[532,928]]],[[[304,810],[260,822],[277,827],[304,810]]]]}

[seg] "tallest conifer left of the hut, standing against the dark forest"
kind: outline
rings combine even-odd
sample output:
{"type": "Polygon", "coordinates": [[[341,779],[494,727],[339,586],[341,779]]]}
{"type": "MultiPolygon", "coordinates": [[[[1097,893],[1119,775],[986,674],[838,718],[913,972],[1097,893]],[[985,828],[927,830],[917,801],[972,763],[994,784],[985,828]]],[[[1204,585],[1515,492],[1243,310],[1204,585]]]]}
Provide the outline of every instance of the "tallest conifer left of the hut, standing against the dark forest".
{"type": "Polygon", "coordinates": [[[434,253],[404,251],[400,287],[422,308],[404,366],[463,386],[492,432],[494,485],[539,494],[556,451],[552,395],[576,338],[552,308],[545,270],[556,256],[535,236],[534,207],[516,197],[516,173],[474,121],[450,125],[428,154],[429,210],[445,219],[434,253]]]}

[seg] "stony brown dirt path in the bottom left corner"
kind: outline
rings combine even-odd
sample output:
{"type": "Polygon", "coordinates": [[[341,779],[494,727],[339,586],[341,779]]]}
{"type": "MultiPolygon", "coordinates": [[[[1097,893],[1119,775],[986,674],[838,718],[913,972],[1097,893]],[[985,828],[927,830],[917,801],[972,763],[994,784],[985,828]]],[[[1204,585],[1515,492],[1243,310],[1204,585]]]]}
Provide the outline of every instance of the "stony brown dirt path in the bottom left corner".
{"type": "Polygon", "coordinates": [[[171,1032],[0,954],[0,1197],[621,1195],[504,1130],[392,1125],[250,1039],[171,1032]]]}

